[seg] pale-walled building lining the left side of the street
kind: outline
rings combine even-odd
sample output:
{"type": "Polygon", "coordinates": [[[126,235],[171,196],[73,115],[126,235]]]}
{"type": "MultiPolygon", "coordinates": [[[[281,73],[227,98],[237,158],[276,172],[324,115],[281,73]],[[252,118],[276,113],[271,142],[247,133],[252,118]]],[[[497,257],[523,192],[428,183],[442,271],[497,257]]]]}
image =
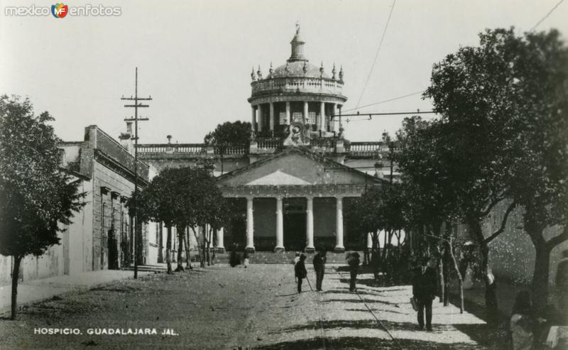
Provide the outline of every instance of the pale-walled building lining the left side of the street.
{"type": "MultiPolygon", "coordinates": [[[[42,256],[26,256],[21,263],[22,280],[56,275],[119,269],[133,261],[133,218],[126,201],[134,190],[134,158],[118,141],[97,126],[84,129],[83,141],[60,143],[62,166],[72,170],[86,194],[85,206],[62,227],[60,244],[42,256]]],[[[138,163],[138,183],[148,184],[149,167],[138,163]]],[[[149,225],[148,225],[149,226],[149,225]]],[[[146,225],[141,242],[141,261],[151,255],[146,225]]],[[[11,280],[13,261],[0,257],[0,283],[11,280]]]]}

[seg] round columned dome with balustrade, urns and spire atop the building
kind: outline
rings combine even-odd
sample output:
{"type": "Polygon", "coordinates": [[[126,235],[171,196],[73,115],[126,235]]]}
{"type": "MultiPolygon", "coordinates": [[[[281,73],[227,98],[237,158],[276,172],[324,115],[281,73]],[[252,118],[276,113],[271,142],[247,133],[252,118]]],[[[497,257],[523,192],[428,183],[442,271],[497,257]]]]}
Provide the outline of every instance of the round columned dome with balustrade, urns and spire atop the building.
{"type": "Polygon", "coordinates": [[[343,95],[343,69],[333,65],[328,73],[312,65],[304,54],[300,25],[290,42],[285,64],[266,77],[260,66],[251,72],[251,124],[256,136],[285,136],[285,146],[310,145],[315,138],[341,136],[338,115],[347,98],[343,95]]]}

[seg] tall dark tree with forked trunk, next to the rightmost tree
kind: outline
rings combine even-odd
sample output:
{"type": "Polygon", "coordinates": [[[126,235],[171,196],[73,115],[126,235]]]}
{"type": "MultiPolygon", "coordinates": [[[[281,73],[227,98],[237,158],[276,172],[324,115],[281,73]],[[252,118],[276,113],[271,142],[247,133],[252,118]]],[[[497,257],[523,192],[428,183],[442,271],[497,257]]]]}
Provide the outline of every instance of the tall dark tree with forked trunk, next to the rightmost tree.
{"type": "Polygon", "coordinates": [[[517,82],[510,75],[519,43],[512,29],[488,30],[479,38],[479,47],[460,48],[434,66],[425,97],[432,98],[440,116],[439,156],[452,179],[454,204],[480,247],[488,317],[493,323],[497,310],[488,244],[501,234],[517,203],[510,202],[501,229],[488,237],[480,222],[510,197],[508,175],[520,156],[512,142],[519,110],[518,97],[512,93],[517,82]]]}

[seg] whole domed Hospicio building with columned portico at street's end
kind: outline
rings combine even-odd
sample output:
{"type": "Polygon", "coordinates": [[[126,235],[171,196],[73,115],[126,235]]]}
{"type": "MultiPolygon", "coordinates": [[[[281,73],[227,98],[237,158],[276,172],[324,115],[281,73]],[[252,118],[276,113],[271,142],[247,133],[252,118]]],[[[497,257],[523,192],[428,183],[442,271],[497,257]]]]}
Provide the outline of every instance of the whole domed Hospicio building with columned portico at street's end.
{"type": "Polygon", "coordinates": [[[138,156],[158,171],[214,168],[224,197],[241,212],[217,232],[214,246],[220,252],[225,246],[249,252],[342,252],[365,244],[344,222],[344,210],[368,185],[384,181],[380,159],[388,146],[345,140],[342,67],[310,63],[298,24],[290,48],[290,58],[270,65],[266,75],[260,67],[251,72],[248,148],[138,145],[138,156]]]}

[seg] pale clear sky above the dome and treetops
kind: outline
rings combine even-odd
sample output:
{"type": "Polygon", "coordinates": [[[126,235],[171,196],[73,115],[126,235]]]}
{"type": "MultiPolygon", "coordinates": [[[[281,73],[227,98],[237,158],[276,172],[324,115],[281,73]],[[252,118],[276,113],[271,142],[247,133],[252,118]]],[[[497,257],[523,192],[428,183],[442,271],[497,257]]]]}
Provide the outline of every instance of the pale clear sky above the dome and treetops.
{"type": "MultiPolygon", "coordinates": [[[[266,75],[271,62],[285,64],[297,21],[310,62],[328,74],[343,67],[344,113],[427,111],[420,92],[435,62],[476,45],[485,28],[530,31],[559,0],[73,1],[65,4],[119,6],[121,15],[6,16],[6,6],[33,4],[55,3],[0,0],[0,94],[49,111],[64,141],[93,124],[116,138],[133,116],[120,98],[133,95],[138,67],[138,94],[153,98],[139,142],[200,143],[217,124],[251,120],[251,68],[266,75]]],[[[567,18],[568,1],[535,30],[566,38],[567,18]]],[[[351,118],[346,138],[378,141],[403,118],[351,118]]]]}

